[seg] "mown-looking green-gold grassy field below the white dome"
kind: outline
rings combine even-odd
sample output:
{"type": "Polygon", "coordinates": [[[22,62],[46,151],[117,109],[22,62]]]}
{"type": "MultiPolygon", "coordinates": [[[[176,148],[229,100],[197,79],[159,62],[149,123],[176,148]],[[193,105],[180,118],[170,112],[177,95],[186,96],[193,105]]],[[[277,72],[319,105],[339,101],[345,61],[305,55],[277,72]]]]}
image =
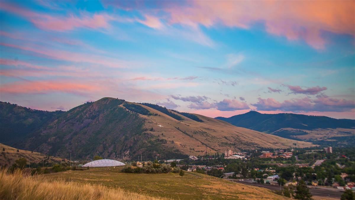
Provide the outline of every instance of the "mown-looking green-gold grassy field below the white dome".
{"type": "Polygon", "coordinates": [[[130,174],[120,168],[91,168],[43,175],[45,179],[102,185],[130,193],[169,199],[285,199],[272,191],[193,172],[130,174]]]}

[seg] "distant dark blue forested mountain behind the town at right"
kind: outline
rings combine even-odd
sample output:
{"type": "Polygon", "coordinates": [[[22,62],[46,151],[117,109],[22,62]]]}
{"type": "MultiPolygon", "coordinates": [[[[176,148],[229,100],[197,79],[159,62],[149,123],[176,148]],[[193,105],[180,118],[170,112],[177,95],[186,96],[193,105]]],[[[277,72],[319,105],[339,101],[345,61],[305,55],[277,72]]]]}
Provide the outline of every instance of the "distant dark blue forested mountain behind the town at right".
{"type": "Polygon", "coordinates": [[[216,117],[238,127],[319,144],[354,142],[355,120],[299,114],[261,114],[250,111],[231,117],[216,117]]]}

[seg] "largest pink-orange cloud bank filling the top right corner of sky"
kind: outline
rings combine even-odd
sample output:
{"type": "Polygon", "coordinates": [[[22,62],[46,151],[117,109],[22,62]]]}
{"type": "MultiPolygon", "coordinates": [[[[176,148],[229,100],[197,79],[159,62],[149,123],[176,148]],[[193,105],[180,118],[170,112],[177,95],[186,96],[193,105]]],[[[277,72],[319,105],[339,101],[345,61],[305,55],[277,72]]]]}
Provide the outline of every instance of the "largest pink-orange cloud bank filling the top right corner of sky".
{"type": "Polygon", "coordinates": [[[266,31],[288,40],[305,40],[315,49],[326,44],[322,31],[355,35],[354,1],[189,1],[165,9],[169,22],[192,27],[249,28],[262,21],[266,31]]]}

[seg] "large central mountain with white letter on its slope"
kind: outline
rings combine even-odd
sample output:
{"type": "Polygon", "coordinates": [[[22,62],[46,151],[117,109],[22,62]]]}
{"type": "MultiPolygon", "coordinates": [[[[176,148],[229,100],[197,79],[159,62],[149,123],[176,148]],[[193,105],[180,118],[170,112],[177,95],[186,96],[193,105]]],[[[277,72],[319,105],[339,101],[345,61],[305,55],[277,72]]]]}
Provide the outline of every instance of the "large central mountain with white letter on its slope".
{"type": "MultiPolygon", "coordinates": [[[[17,114],[16,108],[12,110],[0,116],[9,121],[9,116],[17,114]]],[[[21,113],[21,116],[23,119],[16,116],[22,121],[16,126],[26,129],[27,123],[24,122],[32,115],[21,113]]],[[[16,134],[11,132],[13,126],[11,121],[0,121],[0,131],[9,131],[8,135],[16,134]]],[[[312,146],[311,143],[236,127],[202,115],[115,98],[88,102],[52,115],[40,127],[21,136],[21,140],[0,138],[0,142],[60,157],[68,157],[72,153],[73,159],[92,158],[94,155],[113,158],[113,153],[125,159],[137,159],[140,155],[148,159],[155,156],[159,159],[183,158],[185,155],[214,154],[226,149],[312,146]]]]}

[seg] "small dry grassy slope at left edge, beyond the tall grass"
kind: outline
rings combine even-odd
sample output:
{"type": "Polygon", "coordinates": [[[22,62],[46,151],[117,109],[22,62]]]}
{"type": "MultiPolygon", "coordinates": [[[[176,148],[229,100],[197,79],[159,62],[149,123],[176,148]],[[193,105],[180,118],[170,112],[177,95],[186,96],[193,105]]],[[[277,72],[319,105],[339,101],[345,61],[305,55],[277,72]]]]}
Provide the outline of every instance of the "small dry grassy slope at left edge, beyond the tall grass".
{"type": "MultiPolygon", "coordinates": [[[[10,166],[11,164],[15,163],[15,160],[19,158],[26,158],[26,160],[30,160],[31,163],[38,163],[41,162],[44,158],[47,159],[47,156],[42,153],[31,152],[22,149],[19,149],[19,152],[17,152],[16,148],[0,143],[0,165],[6,164],[7,166],[10,166]],[[5,151],[2,151],[3,148],[5,148],[5,151]]],[[[61,160],[62,158],[50,156],[49,160],[46,160],[46,162],[61,162],[61,160]]],[[[66,159],[65,161],[68,160],[66,159]]]]}

